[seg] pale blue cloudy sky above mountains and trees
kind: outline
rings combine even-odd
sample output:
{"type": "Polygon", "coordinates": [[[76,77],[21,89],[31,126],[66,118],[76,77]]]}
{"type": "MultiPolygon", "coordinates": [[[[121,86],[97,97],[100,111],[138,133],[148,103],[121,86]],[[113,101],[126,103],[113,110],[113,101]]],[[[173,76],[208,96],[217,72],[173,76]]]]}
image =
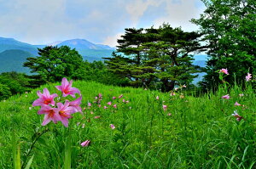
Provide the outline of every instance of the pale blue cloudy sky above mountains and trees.
{"type": "Polygon", "coordinates": [[[83,38],[115,46],[127,27],[166,22],[195,31],[189,20],[204,9],[201,0],[0,0],[0,37],[32,44],[83,38]]]}

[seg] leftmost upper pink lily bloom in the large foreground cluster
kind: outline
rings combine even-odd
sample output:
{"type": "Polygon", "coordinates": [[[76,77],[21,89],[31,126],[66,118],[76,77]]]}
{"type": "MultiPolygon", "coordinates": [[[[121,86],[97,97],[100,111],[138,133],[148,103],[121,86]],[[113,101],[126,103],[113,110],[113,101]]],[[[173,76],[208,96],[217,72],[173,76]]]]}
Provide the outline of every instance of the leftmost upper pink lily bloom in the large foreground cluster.
{"type": "Polygon", "coordinates": [[[56,93],[50,95],[49,90],[47,88],[44,88],[43,94],[38,91],[38,96],[39,99],[36,99],[33,103],[32,106],[38,106],[38,105],[55,105],[55,98],[58,96],[56,93]]]}

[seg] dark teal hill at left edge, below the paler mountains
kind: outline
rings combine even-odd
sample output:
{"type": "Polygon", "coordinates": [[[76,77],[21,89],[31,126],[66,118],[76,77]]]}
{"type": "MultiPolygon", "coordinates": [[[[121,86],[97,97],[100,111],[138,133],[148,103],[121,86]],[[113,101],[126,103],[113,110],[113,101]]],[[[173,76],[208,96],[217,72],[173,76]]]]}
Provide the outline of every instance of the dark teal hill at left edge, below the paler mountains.
{"type": "Polygon", "coordinates": [[[3,51],[0,53],[0,73],[7,71],[17,71],[30,74],[30,70],[26,67],[23,67],[23,63],[28,57],[33,57],[33,55],[29,52],[19,49],[3,51]]]}

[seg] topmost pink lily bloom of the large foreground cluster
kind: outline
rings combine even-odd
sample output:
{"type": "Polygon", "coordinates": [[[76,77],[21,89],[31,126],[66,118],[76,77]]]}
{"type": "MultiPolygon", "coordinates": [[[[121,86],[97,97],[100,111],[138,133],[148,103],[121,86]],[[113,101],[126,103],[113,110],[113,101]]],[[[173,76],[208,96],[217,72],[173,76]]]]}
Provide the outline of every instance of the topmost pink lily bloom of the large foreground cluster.
{"type": "Polygon", "coordinates": [[[75,98],[75,93],[80,93],[78,88],[72,87],[73,80],[70,82],[67,81],[67,78],[64,77],[61,81],[61,86],[56,86],[58,90],[62,92],[63,97],[67,97],[68,95],[71,95],[73,98],[75,98]]]}

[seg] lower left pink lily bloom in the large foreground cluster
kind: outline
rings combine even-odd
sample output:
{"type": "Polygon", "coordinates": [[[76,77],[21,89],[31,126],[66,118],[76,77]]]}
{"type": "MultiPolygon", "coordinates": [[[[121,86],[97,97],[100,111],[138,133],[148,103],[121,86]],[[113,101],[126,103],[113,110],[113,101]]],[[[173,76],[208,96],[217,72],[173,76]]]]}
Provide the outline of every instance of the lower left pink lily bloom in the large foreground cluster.
{"type": "Polygon", "coordinates": [[[58,112],[55,111],[55,108],[50,107],[49,105],[42,105],[41,110],[38,110],[38,115],[44,114],[44,121],[42,126],[47,125],[50,121],[57,123],[57,121],[61,121],[61,116],[58,112]]]}

